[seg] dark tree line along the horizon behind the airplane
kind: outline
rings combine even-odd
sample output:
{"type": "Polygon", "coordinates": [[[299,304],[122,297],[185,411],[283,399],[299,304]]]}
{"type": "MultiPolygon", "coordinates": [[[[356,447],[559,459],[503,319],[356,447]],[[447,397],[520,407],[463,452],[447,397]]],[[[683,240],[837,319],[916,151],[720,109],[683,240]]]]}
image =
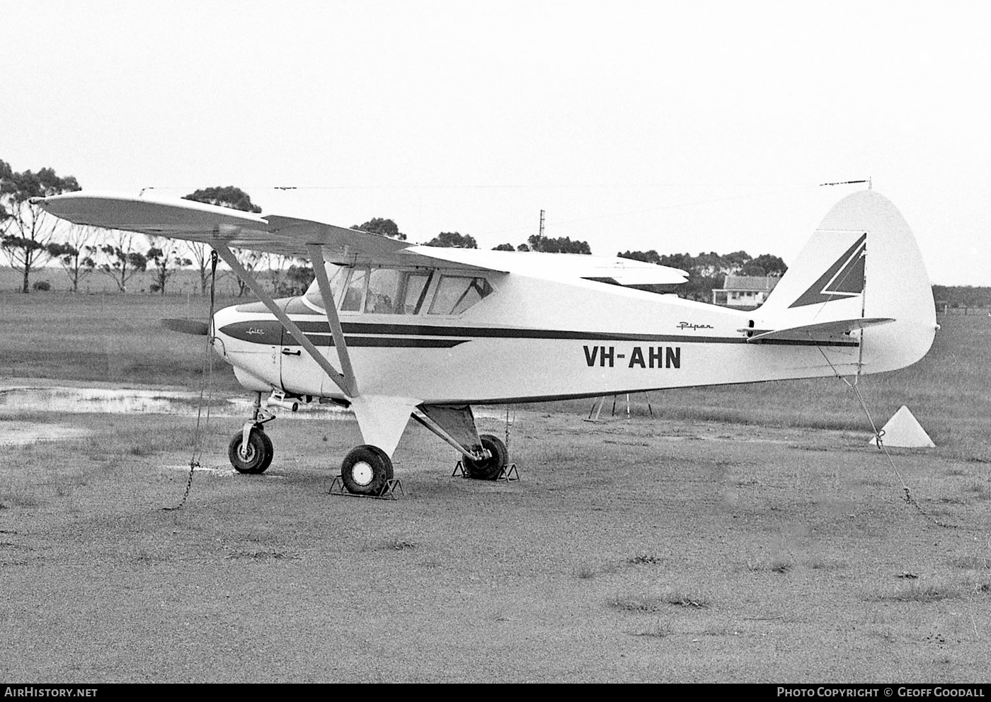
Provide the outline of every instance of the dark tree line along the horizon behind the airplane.
{"type": "MultiPolygon", "coordinates": [[[[31,274],[55,260],[69,279],[75,292],[86,276],[99,273],[109,276],[121,292],[138,273],[153,273],[153,292],[165,294],[168,280],[180,268],[199,273],[200,291],[206,293],[210,277],[210,248],[196,242],[181,242],[164,237],[138,235],[119,230],[99,230],[78,225],[66,226],[37,205],[34,197],[50,197],[79,190],[71,175],[59,176],[54,168],[38,172],[14,171],[0,160],[0,251],[11,267],[22,274],[22,292],[30,292],[31,274]]],[[[235,186],[210,187],[183,196],[184,199],[229,207],[243,212],[261,213],[262,208],[235,186]]],[[[406,240],[406,235],[390,219],[376,217],[353,229],[406,240]]],[[[426,243],[430,247],[478,249],[474,237],[460,232],[441,232],[426,243]]],[[[592,253],[588,242],[568,237],[532,235],[517,245],[500,244],[495,251],[544,251],[552,253],[592,253]]],[[[313,279],[309,261],[262,251],[236,250],[235,255],[246,269],[267,278],[275,294],[298,294],[313,279]]],[[[708,301],[712,290],[722,287],[727,274],[782,275],[787,270],[778,256],[763,253],[752,257],[746,251],[719,254],[716,251],[660,254],[657,251],[620,251],[616,255],[660,265],[681,268],[689,273],[688,283],[679,294],[708,301]]],[[[247,292],[238,281],[239,295],[247,292]]]]}

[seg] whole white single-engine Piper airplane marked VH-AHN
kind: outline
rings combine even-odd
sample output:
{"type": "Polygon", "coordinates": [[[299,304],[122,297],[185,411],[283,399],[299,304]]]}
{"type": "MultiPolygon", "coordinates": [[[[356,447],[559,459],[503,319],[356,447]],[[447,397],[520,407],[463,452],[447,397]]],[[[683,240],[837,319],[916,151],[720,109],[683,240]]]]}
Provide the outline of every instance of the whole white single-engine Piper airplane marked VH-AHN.
{"type": "Polygon", "coordinates": [[[358,494],[385,490],[410,417],[460,451],[470,477],[495,479],[506,448],[479,436],[474,404],[875,373],[916,362],[936,333],[912,232],[871,190],[829,211],[750,312],[632,287],[687,274],[624,258],[412,246],[158,197],[76,192],[33,202],[75,224],[213,247],[262,300],[220,310],[210,330],[256,393],[231,462],[248,473],[272,462],[263,425],[275,415],[263,393],[273,393],[268,406],[326,398],[358,420],[365,444],[341,466],[358,494]],[[275,300],[232,248],[309,257],[315,280],[305,295],[275,300]]]}

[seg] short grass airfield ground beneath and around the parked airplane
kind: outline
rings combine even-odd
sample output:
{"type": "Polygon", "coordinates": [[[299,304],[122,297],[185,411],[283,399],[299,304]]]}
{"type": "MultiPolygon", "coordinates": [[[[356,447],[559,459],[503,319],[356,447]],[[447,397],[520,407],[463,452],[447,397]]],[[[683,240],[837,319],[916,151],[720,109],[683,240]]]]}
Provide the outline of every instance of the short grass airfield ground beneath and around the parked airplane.
{"type": "MultiPolygon", "coordinates": [[[[184,299],[40,299],[0,297],[9,377],[198,384],[199,340],[156,326],[184,299]]],[[[0,466],[0,677],[987,682],[991,319],[940,323],[922,362],[861,381],[879,424],[907,404],[938,446],[892,451],[897,473],[828,379],[598,423],[591,401],[519,407],[509,484],[450,477],[411,425],[395,502],[326,494],[354,422],[275,421],[248,477],[214,420],[216,470],[177,511],[194,418],[8,411],[86,434],[0,466]]]]}

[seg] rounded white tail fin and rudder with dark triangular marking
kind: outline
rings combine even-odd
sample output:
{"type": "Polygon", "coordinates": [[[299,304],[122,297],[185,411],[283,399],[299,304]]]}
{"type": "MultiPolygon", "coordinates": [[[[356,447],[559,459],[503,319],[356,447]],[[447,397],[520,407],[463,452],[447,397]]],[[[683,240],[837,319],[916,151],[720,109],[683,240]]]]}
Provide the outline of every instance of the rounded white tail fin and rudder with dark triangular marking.
{"type": "Polygon", "coordinates": [[[915,237],[895,206],[872,190],[833,206],[753,314],[754,342],[859,336],[865,373],[915,363],[936,334],[933,288],[915,237]]]}

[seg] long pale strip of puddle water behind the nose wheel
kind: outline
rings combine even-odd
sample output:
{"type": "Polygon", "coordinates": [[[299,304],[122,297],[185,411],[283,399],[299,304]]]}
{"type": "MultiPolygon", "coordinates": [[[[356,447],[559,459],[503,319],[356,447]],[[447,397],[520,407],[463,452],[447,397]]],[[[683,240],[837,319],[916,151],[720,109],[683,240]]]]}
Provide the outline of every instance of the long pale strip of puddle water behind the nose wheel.
{"type": "MultiPolygon", "coordinates": [[[[244,417],[251,413],[247,397],[214,397],[210,414],[244,417]]],[[[96,414],[195,415],[199,394],[175,390],[116,390],[110,388],[12,387],[0,389],[0,411],[96,414]]],[[[203,411],[206,411],[204,404],[203,411]]],[[[344,420],[354,415],[337,405],[300,404],[298,412],[278,410],[280,417],[344,420]]]]}

